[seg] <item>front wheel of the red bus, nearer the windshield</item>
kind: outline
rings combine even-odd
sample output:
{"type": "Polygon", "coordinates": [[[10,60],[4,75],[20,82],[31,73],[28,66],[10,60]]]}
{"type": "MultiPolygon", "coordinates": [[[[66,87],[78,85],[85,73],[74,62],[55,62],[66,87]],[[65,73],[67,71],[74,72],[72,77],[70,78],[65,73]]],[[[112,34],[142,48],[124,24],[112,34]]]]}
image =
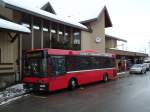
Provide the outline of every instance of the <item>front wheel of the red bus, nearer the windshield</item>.
{"type": "Polygon", "coordinates": [[[68,89],[73,90],[78,86],[78,80],[75,77],[70,78],[68,81],[68,89]]]}

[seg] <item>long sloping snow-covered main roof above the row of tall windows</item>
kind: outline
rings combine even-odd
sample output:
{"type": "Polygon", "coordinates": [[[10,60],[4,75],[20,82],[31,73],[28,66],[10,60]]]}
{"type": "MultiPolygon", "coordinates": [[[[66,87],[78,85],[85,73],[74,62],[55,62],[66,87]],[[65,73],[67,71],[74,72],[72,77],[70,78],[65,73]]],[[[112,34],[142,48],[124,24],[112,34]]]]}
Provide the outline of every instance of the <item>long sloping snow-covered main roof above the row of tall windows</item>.
{"type": "Polygon", "coordinates": [[[2,0],[5,3],[5,7],[12,8],[15,10],[19,10],[25,13],[32,14],[34,16],[38,16],[40,18],[54,21],[57,23],[65,24],[71,27],[87,30],[88,28],[70,18],[62,18],[58,15],[51,14],[49,12],[43,11],[37,7],[32,7],[31,5],[27,4],[24,0],[2,0]]]}

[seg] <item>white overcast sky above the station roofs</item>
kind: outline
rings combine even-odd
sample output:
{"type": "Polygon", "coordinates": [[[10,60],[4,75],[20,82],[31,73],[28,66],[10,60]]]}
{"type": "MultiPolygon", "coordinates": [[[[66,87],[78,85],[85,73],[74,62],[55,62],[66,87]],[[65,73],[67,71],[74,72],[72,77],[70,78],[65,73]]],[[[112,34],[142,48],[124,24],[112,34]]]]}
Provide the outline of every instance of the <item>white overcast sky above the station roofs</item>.
{"type": "MultiPolygon", "coordinates": [[[[48,0],[36,1],[40,6],[48,0]]],[[[150,0],[49,0],[56,13],[82,20],[97,15],[106,5],[113,23],[106,34],[128,41],[127,50],[148,53],[150,41],[150,0]]]]}

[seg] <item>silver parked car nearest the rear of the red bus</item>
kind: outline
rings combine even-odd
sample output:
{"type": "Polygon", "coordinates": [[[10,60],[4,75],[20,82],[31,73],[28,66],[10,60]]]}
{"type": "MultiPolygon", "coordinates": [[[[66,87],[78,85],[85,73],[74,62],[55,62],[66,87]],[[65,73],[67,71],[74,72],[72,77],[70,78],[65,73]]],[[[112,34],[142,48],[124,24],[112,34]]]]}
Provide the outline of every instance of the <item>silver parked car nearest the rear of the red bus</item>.
{"type": "Polygon", "coordinates": [[[144,64],[134,64],[131,68],[130,68],[130,74],[132,73],[141,73],[144,74],[146,73],[146,66],[144,64]]]}

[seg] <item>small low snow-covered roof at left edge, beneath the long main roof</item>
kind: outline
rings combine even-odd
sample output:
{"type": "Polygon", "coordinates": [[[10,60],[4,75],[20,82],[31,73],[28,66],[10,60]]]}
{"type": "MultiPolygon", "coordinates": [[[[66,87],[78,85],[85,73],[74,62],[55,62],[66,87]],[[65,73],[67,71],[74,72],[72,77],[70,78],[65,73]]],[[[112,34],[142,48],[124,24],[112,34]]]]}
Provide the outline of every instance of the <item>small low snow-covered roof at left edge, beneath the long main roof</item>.
{"type": "Polygon", "coordinates": [[[30,30],[22,25],[0,18],[0,29],[7,29],[17,32],[30,33],[30,30]]]}

